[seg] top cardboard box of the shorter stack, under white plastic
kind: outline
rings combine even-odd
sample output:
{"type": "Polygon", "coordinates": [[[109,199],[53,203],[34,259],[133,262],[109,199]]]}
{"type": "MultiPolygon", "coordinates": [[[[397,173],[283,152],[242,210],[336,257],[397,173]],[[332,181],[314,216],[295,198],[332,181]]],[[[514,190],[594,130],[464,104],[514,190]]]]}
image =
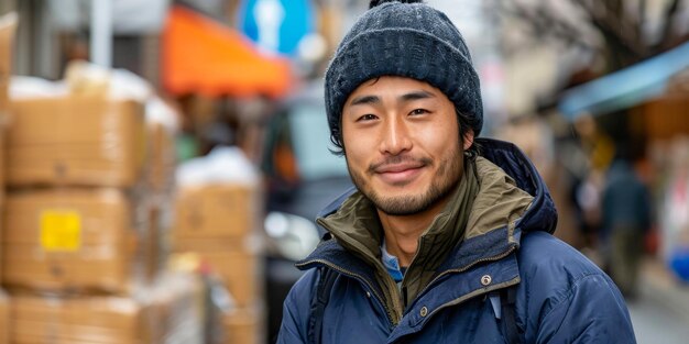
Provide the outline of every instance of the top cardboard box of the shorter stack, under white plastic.
{"type": "Polygon", "coordinates": [[[259,225],[258,190],[243,185],[179,187],[175,200],[178,238],[240,237],[259,225]]]}

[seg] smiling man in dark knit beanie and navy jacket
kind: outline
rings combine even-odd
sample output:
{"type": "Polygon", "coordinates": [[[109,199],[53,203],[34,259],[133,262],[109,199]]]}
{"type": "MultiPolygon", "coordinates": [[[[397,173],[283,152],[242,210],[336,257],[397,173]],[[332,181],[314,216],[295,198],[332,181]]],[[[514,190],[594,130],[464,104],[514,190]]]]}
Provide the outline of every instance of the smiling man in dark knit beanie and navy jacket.
{"type": "Polygon", "coordinates": [[[550,235],[533,165],[477,138],[457,29],[417,1],[373,2],[326,73],[357,190],[317,220],[328,235],[297,264],[278,343],[634,343],[614,284],[550,235]]]}

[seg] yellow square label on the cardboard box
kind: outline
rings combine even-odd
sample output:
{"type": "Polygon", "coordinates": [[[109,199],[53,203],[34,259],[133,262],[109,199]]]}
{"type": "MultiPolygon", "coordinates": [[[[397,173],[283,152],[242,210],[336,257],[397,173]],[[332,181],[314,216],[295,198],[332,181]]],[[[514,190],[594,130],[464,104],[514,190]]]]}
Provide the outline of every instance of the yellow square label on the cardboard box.
{"type": "Polygon", "coordinates": [[[45,251],[77,251],[81,247],[81,217],[75,211],[41,213],[41,246],[45,251]]]}

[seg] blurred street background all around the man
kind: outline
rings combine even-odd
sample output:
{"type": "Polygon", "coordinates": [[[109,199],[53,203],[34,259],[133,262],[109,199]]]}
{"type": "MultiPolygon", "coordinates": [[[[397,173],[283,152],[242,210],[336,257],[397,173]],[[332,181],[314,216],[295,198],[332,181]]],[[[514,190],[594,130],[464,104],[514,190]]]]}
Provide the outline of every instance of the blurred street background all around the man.
{"type": "MultiPolygon", "coordinates": [[[[689,1],[429,0],[484,136],[638,343],[689,337],[689,1]]],[[[364,0],[0,0],[0,343],[273,343],[351,186],[322,75],[364,0]]]]}

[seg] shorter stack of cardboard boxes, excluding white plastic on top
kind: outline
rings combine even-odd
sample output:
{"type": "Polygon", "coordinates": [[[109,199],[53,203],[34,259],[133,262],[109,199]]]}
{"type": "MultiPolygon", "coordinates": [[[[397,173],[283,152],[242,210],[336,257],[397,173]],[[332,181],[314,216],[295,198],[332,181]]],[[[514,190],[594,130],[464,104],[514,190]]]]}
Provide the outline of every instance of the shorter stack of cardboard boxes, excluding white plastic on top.
{"type": "Polygon", "coordinates": [[[174,251],[195,253],[217,274],[237,308],[223,320],[229,344],[259,343],[264,331],[255,230],[259,188],[241,184],[179,186],[174,251]]]}

